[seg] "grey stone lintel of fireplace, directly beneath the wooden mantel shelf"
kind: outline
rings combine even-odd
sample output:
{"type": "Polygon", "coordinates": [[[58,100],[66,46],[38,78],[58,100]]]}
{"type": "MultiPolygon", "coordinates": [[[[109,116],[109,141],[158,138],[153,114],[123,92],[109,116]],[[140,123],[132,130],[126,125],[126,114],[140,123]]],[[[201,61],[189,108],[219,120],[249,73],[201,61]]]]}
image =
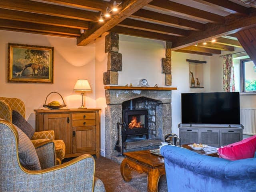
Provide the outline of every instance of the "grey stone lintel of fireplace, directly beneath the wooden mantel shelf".
{"type": "Polygon", "coordinates": [[[105,90],[106,104],[122,104],[124,101],[138,97],[159,100],[162,103],[171,103],[171,90],[105,90]]]}

